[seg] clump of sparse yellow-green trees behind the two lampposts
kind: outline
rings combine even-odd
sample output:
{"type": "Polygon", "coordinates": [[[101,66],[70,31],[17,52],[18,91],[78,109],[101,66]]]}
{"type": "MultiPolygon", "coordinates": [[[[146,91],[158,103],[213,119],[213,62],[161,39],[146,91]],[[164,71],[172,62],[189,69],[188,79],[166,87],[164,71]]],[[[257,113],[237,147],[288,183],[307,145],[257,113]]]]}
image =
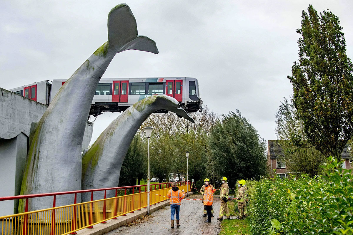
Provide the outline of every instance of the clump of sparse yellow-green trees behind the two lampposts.
{"type": "Polygon", "coordinates": [[[160,181],[168,180],[169,173],[187,173],[185,152],[189,151],[189,180],[195,182],[207,175],[208,133],[217,116],[206,106],[202,112],[190,113],[195,123],[179,118],[174,113],[152,114],[141,126],[152,126],[151,172],[160,181]],[[163,177],[163,178],[161,178],[163,177]]]}

